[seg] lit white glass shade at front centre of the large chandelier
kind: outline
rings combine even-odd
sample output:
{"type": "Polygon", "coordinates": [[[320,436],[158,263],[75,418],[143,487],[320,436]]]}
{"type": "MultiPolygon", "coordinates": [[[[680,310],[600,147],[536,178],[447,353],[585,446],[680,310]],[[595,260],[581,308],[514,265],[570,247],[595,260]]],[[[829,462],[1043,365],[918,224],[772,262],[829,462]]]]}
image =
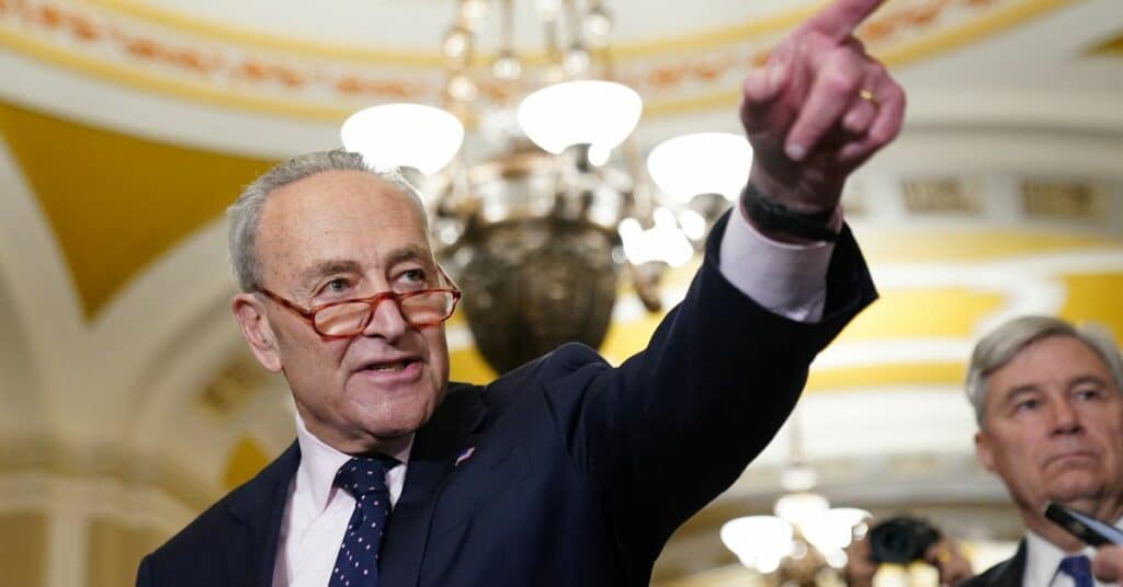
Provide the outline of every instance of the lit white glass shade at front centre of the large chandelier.
{"type": "Polygon", "coordinates": [[[519,126],[536,145],[559,154],[573,145],[611,150],[639,122],[643,101],[627,85],[600,80],[562,82],[519,103],[519,126]]]}

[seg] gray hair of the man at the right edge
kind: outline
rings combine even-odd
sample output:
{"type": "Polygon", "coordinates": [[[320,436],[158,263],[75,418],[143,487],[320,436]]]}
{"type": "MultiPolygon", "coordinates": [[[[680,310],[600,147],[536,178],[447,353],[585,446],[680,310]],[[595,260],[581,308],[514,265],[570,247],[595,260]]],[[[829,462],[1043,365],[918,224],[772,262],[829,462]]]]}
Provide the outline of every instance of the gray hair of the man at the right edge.
{"type": "Polygon", "coordinates": [[[1107,366],[1115,379],[1115,388],[1123,391],[1123,358],[1106,329],[1094,323],[1075,327],[1048,315],[1015,318],[983,337],[971,352],[965,387],[979,428],[983,428],[986,411],[987,377],[1013,360],[1025,347],[1048,337],[1071,337],[1084,342],[1107,366]]]}

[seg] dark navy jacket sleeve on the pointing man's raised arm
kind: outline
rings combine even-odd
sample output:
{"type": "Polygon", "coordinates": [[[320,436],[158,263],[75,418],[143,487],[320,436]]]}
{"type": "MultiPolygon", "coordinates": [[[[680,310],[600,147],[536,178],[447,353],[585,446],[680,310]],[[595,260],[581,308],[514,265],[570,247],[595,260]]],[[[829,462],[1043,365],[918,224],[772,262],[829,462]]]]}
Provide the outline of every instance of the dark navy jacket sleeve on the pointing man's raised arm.
{"type": "MultiPolygon", "coordinates": [[[[718,270],[728,214],[712,231],[685,300],[647,348],[619,368],[592,351],[548,382],[568,456],[597,493],[622,548],[657,553],[686,519],[728,488],[779,430],[815,355],[876,297],[849,229],[828,269],[819,323],[759,306],[718,270]]],[[[652,554],[654,558],[654,554],[652,554]]]]}

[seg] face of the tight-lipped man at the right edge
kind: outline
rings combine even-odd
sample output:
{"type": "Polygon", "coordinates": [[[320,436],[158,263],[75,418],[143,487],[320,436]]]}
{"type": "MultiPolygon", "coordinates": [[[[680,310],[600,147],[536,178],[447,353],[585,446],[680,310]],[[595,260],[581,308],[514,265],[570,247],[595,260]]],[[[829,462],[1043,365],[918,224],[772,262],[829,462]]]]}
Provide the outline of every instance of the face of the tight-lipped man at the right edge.
{"type": "Polygon", "coordinates": [[[986,380],[979,461],[1025,512],[1046,499],[1119,515],[1123,499],[1123,397],[1111,372],[1078,339],[1022,349],[986,380]]]}

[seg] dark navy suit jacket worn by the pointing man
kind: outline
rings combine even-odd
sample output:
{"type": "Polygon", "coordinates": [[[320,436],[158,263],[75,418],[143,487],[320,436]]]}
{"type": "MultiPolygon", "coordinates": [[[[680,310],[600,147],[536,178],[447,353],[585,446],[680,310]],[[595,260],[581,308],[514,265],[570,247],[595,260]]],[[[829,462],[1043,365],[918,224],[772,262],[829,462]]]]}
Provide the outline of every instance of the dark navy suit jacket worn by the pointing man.
{"type": "MultiPolygon", "coordinates": [[[[719,273],[723,231],[724,220],[686,299],[619,368],[567,345],[486,387],[449,385],[414,438],[384,587],[648,584],[670,533],[765,448],[812,358],[876,296],[847,231],[823,320],[778,317],[719,273]]],[[[146,557],[137,585],[270,585],[299,462],[293,444],[146,557]]]]}

